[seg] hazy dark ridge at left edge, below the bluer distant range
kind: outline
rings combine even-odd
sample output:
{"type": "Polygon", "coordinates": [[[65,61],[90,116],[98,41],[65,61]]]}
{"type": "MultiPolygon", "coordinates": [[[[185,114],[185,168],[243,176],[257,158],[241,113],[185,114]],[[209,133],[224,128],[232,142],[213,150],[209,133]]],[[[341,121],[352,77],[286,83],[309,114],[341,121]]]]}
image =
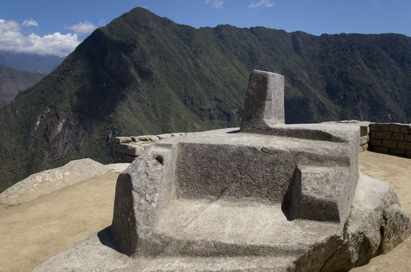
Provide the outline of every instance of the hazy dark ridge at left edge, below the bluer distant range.
{"type": "Polygon", "coordinates": [[[0,67],[0,108],[13,101],[18,92],[33,86],[44,76],[44,74],[0,67]]]}

